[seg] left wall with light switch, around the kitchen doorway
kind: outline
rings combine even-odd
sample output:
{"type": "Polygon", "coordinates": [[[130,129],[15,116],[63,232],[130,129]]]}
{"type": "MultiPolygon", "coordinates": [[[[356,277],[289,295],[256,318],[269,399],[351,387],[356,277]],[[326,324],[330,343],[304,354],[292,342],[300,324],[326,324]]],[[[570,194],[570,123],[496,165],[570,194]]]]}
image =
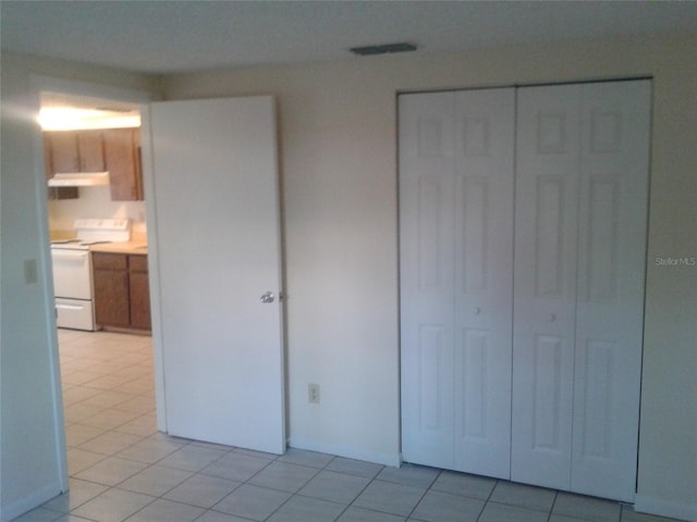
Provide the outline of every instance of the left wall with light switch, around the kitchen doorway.
{"type": "Polygon", "coordinates": [[[32,74],[155,89],[143,77],[2,54],[0,520],[56,496],[66,484],[53,319],[44,157],[33,115],[32,74]],[[36,282],[25,278],[35,263],[36,282]]]}

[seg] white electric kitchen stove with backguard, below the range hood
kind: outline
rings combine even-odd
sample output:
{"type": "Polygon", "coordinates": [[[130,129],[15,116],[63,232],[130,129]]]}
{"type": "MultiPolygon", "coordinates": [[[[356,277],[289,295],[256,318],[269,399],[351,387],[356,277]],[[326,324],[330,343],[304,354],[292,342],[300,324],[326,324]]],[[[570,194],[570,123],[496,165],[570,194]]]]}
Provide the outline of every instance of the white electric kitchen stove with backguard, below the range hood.
{"type": "Polygon", "coordinates": [[[131,239],[130,220],[78,219],[75,238],[51,243],[57,325],[95,330],[95,306],[89,248],[131,239]]]}

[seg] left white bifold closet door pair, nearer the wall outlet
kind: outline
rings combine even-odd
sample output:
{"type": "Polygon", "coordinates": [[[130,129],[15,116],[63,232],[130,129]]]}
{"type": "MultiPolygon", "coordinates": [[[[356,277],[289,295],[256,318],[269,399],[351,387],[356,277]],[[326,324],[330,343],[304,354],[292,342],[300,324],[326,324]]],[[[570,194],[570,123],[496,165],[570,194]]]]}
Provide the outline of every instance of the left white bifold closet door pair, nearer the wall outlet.
{"type": "Polygon", "coordinates": [[[400,96],[402,453],[510,476],[514,89],[400,96]]]}

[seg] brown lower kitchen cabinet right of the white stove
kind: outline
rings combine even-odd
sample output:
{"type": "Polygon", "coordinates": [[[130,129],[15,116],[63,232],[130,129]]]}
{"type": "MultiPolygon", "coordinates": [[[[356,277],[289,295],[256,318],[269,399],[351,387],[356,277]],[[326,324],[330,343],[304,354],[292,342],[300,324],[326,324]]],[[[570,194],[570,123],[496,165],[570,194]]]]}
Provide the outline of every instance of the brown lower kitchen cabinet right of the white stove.
{"type": "Polygon", "coordinates": [[[118,330],[150,330],[147,256],[93,252],[95,321],[118,330]]]}

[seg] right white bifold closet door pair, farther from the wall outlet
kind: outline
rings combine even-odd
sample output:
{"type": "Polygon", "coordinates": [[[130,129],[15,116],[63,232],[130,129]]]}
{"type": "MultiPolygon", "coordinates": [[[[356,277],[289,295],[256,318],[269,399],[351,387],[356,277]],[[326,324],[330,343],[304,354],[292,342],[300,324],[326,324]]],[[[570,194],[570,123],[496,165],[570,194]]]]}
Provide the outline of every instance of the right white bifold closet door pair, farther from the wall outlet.
{"type": "Polygon", "coordinates": [[[521,88],[511,477],[634,500],[650,83],[521,88]]]}

